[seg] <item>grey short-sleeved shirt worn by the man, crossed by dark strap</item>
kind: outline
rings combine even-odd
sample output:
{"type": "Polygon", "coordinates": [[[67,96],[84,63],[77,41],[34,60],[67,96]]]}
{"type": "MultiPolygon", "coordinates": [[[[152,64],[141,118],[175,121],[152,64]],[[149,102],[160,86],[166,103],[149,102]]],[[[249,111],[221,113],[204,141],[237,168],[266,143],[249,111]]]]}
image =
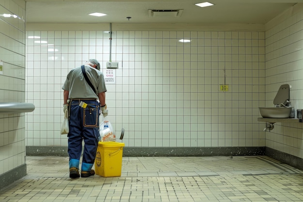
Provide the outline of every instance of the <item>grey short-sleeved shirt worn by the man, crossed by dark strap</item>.
{"type": "MultiPolygon", "coordinates": [[[[90,79],[91,84],[95,89],[97,89],[98,93],[107,91],[102,72],[89,65],[85,65],[85,72],[87,77],[90,79]]],[[[76,67],[68,73],[62,89],[69,91],[68,99],[99,99],[98,93],[95,93],[95,91],[91,89],[91,86],[86,82],[81,67],[76,67]]]]}

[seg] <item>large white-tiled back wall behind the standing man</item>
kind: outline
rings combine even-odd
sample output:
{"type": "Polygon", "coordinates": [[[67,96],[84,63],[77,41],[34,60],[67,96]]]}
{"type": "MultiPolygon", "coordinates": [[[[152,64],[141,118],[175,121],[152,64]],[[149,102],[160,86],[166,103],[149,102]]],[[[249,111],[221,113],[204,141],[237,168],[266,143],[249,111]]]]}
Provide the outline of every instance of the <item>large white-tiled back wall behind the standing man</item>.
{"type": "MultiPolygon", "coordinates": [[[[108,33],[27,36],[35,37],[27,39],[27,101],[36,106],[27,114],[27,145],[67,146],[61,86],[89,58],[106,71],[108,33]]],[[[123,127],[127,147],[265,146],[257,121],[265,105],[264,48],[262,31],[113,31],[111,57],[120,66],[106,103],[118,138],[123,127]]]]}

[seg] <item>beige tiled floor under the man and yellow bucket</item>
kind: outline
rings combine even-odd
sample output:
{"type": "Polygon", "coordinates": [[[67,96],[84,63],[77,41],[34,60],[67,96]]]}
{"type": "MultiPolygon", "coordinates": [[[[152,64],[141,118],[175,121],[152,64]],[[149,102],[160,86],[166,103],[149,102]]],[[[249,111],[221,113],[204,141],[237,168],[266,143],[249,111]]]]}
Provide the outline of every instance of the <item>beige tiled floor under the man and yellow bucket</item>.
{"type": "Polygon", "coordinates": [[[302,202],[303,171],[266,156],[123,157],[121,177],[70,179],[68,157],[27,156],[0,202],[302,202]]]}

